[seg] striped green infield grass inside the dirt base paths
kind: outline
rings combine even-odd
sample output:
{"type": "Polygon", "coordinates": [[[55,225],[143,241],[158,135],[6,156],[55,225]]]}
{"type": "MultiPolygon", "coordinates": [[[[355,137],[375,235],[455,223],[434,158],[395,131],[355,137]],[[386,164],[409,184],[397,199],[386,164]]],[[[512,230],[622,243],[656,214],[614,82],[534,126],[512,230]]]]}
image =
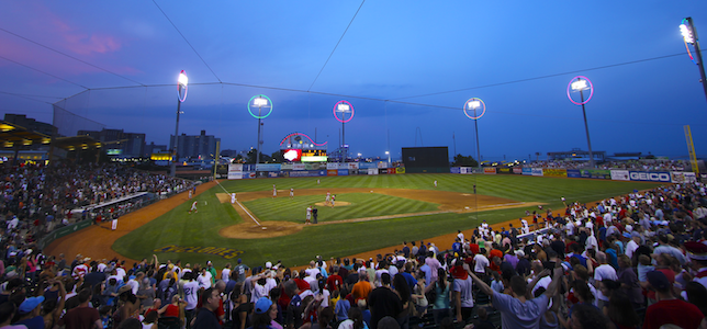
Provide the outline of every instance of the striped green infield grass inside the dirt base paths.
{"type": "MultiPolygon", "coordinates": [[[[296,190],[295,190],[296,191],[296,190]]],[[[263,197],[244,202],[244,205],[260,220],[289,220],[303,223],[306,208],[315,203],[324,202],[325,194],[303,195],[290,200],[289,196],[276,198],[263,197]]],[[[344,193],[336,195],[336,202],[348,202],[346,206],[317,206],[318,222],[341,220],[351,218],[375,217],[382,215],[399,215],[438,211],[438,204],[383,195],[377,193],[344,193]]]]}

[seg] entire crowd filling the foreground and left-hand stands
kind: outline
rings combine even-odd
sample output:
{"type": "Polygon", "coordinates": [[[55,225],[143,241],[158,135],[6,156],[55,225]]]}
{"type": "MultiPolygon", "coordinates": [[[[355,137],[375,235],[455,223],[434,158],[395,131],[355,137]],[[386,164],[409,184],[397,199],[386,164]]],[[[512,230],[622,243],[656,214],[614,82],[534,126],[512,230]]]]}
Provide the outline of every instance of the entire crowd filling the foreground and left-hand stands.
{"type": "MultiPolygon", "coordinates": [[[[63,207],[53,209],[61,216],[61,208],[71,203],[192,186],[111,167],[5,169],[4,181],[0,211],[9,217],[0,263],[0,326],[406,329],[464,328],[471,324],[473,328],[706,325],[707,193],[702,183],[665,185],[586,205],[570,203],[561,213],[538,207],[524,217],[526,223],[513,223],[513,228],[483,223],[472,231],[451,235],[453,242],[407,241],[392,252],[341,259],[313,256],[310,265],[298,271],[272,260],[257,264],[238,261],[215,269],[210,262],[192,266],[160,262],[157,257],[134,264],[120,258],[55,258],[33,249],[32,238],[42,227],[25,219],[48,211],[46,206],[64,202],[63,207]],[[89,179],[96,172],[106,177],[89,179]],[[48,177],[59,179],[59,185],[47,186],[53,182],[45,180],[48,177]],[[143,186],[125,177],[152,183],[143,186]],[[112,183],[120,179],[126,184],[112,183]],[[78,189],[83,191],[81,197],[64,194],[65,201],[59,196],[68,192],[63,186],[71,190],[77,182],[94,183],[78,189]],[[527,232],[532,228],[537,230],[527,232]]],[[[198,186],[197,193],[212,184],[198,186]]],[[[183,202],[183,194],[171,200],[183,202]]],[[[161,207],[167,201],[146,208],[161,207]]],[[[103,240],[100,236],[93,239],[103,240]]],[[[91,247],[86,248],[83,254],[91,252],[91,247]]]]}

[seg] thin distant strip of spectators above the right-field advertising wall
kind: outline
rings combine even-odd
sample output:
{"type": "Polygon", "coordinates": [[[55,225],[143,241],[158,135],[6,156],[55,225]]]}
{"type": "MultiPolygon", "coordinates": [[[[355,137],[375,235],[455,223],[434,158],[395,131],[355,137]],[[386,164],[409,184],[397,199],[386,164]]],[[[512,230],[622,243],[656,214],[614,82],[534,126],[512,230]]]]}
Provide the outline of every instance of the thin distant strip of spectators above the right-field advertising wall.
{"type": "MultiPolygon", "coordinates": [[[[525,163],[524,167],[530,168],[557,168],[557,169],[591,169],[588,161],[575,160],[554,160],[554,161],[532,161],[525,163]]],[[[637,171],[691,171],[691,163],[687,160],[625,160],[625,161],[603,161],[597,163],[593,169],[625,169],[637,171]]]]}

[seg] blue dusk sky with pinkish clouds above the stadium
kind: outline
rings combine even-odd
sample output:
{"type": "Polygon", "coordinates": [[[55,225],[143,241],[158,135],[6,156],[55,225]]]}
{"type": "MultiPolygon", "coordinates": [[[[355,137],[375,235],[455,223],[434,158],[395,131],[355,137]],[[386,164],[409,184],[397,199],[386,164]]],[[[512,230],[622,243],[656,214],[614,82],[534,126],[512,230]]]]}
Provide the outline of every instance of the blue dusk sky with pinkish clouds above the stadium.
{"type": "Polygon", "coordinates": [[[457,152],[475,158],[462,106],[480,98],[483,160],[523,160],[587,149],[582,107],[566,97],[586,76],[595,151],[686,158],[689,125],[704,158],[707,100],[680,34],[686,16],[707,35],[707,1],[696,0],[5,1],[0,114],[52,123],[64,100],[98,123],[80,128],[168,144],[186,70],[179,132],[205,129],[222,149],[256,145],[247,102],[266,94],[267,154],[315,129],[334,150],[341,125],[332,110],[346,100],[352,154],[384,157],[390,143],[393,158],[412,146],[451,156],[454,136],[457,152]]]}

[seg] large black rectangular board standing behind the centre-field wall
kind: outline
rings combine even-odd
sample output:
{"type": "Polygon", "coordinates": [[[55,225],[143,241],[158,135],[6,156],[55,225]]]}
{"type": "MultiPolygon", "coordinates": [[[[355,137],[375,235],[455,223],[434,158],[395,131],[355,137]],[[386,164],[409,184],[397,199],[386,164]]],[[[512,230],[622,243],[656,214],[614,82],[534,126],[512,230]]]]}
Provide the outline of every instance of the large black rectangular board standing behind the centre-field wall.
{"type": "Polygon", "coordinates": [[[403,147],[403,163],[407,173],[448,173],[449,150],[446,146],[403,147]]]}

